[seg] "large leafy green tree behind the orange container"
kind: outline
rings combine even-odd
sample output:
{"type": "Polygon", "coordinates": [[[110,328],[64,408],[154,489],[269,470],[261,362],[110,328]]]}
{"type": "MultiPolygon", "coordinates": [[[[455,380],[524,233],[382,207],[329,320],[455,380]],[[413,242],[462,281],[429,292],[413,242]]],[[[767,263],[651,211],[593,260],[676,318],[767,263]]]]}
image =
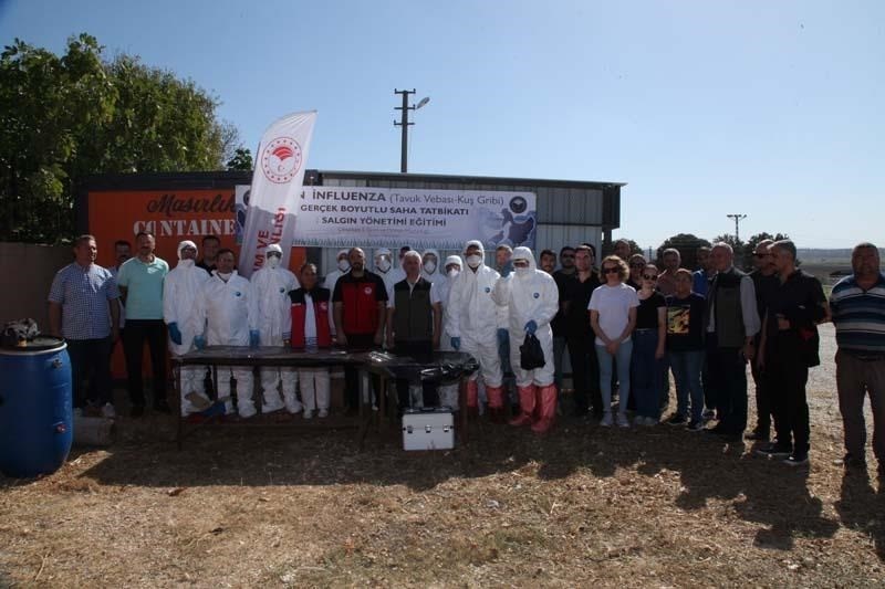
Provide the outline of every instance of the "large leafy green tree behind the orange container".
{"type": "Polygon", "coordinates": [[[0,54],[0,240],[69,239],[88,175],[221,169],[238,147],[192,81],[102,51],[81,34],[62,56],[19,39],[0,54]]]}

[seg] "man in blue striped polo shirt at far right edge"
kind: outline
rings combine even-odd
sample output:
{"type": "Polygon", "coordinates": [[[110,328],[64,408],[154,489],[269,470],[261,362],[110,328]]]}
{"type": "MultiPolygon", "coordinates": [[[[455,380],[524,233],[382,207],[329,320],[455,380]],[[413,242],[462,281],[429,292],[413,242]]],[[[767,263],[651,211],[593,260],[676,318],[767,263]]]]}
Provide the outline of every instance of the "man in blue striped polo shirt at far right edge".
{"type": "Polygon", "coordinates": [[[885,275],[878,248],[861,243],[851,255],[854,274],[830,295],[836,326],[836,388],[845,428],[845,466],[864,469],[864,397],[873,409],[873,453],[878,460],[879,493],[885,492],[885,275]]]}

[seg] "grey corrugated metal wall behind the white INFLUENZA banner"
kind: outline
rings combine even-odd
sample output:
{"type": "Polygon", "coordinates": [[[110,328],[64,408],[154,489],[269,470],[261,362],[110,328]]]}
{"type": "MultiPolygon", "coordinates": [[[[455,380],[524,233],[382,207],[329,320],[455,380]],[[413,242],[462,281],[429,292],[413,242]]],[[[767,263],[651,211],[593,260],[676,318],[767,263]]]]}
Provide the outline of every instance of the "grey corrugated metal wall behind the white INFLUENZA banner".
{"type": "MultiPolygon", "coordinates": [[[[469,181],[437,180],[392,180],[387,178],[358,178],[347,175],[337,178],[334,172],[323,172],[323,186],[341,187],[378,187],[378,188],[418,188],[437,190],[500,190],[534,192],[538,197],[538,231],[535,255],[544,249],[559,252],[563,245],[592,243],[597,251],[602,245],[603,191],[602,189],[575,188],[561,186],[532,186],[528,183],[482,183],[469,181]]],[[[360,245],[355,243],[354,245],[360,245]]],[[[408,243],[403,243],[408,245],[408,243]]],[[[335,269],[337,248],[319,250],[320,273],[325,274],[335,269]]],[[[317,251],[313,250],[312,251],[317,251]]],[[[368,266],[372,267],[373,251],[366,252],[368,266]]],[[[396,254],[397,252],[394,252],[396,254]]],[[[460,253],[441,251],[444,260],[447,255],[460,253]]],[[[440,261],[441,262],[441,261],[440,261]]],[[[493,264],[491,252],[486,253],[486,263],[493,264]]]]}

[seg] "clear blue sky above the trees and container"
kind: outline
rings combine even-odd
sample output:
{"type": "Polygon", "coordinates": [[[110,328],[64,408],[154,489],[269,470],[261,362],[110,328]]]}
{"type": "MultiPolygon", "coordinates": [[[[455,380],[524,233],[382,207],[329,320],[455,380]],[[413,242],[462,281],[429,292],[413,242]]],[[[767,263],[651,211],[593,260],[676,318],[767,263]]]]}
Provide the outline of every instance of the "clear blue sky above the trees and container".
{"type": "Polygon", "coordinates": [[[885,2],[0,0],[0,42],[80,32],[190,77],[254,151],[319,111],[308,166],[628,182],[622,229],[885,243],[885,2]],[[252,6],[250,6],[252,4],[252,6]]]}

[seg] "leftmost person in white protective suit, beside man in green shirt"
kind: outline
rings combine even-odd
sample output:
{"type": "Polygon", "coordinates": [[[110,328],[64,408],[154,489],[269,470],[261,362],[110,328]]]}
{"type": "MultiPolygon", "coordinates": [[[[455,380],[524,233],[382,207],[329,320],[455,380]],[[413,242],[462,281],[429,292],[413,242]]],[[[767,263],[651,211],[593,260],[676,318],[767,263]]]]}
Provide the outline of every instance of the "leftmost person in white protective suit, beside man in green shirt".
{"type": "MultiPolygon", "coordinates": [[[[197,313],[197,299],[202,296],[202,285],[209,280],[209,274],[196,264],[197,244],[183,241],[178,244],[178,265],[163,282],[163,319],[169,332],[173,356],[191,351],[194,338],[205,330],[197,313]]],[[[206,368],[183,366],[180,370],[181,390],[178,392],[181,396],[181,416],[186,417],[205,409],[211,401],[206,397],[204,385],[206,368]]]]}

